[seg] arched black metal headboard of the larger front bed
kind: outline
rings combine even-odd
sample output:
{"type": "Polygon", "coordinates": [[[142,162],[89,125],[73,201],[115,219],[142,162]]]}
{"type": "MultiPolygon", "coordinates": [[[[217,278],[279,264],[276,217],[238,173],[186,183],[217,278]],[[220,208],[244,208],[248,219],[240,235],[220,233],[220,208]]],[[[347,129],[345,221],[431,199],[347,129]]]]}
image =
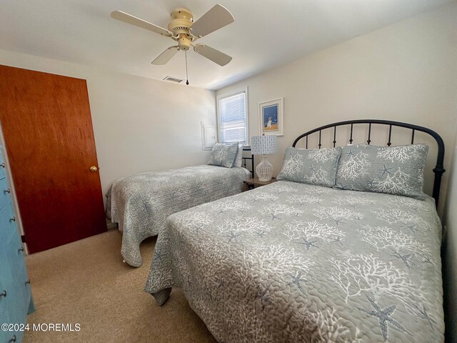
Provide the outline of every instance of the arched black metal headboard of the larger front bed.
{"type": "Polygon", "coordinates": [[[440,197],[440,187],[441,187],[441,177],[446,170],[443,167],[443,159],[444,159],[444,142],[443,139],[441,139],[441,136],[437,134],[435,131],[431,129],[427,129],[426,127],[423,126],[418,126],[418,125],[413,125],[413,124],[406,124],[406,123],[401,123],[400,121],[390,121],[390,120],[382,120],[382,119],[356,119],[356,120],[348,120],[348,121],[338,121],[337,123],[333,124],[328,124],[324,125],[321,127],[318,127],[317,129],[313,129],[311,131],[305,132],[304,134],[301,134],[296,138],[295,141],[293,141],[292,146],[295,147],[297,142],[305,138],[306,139],[306,148],[308,148],[308,136],[310,134],[314,134],[318,132],[319,134],[319,144],[318,147],[321,149],[321,135],[322,131],[325,129],[331,129],[333,128],[333,146],[336,146],[336,127],[337,126],[343,126],[343,125],[350,125],[351,126],[351,137],[349,138],[349,143],[352,144],[352,134],[353,134],[353,126],[355,124],[368,124],[368,140],[366,141],[367,144],[370,144],[371,142],[371,124],[383,124],[383,125],[388,125],[388,141],[387,141],[387,146],[391,146],[391,136],[392,136],[392,126],[400,126],[400,127],[405,127],[406,129],[411,129],[411,144],[414,143],[414,134],[416,131],[422,131],[425,132],[426,134],[429,134],[432,136],[435,140],[436,143],[438,144],[438,155],[436,156],[436,166],[433,169],[433,173],[435,173],[435,181],[433,182],[433,198],[435,199],[436,206],[438,206],[438,199],[440,197]]]}

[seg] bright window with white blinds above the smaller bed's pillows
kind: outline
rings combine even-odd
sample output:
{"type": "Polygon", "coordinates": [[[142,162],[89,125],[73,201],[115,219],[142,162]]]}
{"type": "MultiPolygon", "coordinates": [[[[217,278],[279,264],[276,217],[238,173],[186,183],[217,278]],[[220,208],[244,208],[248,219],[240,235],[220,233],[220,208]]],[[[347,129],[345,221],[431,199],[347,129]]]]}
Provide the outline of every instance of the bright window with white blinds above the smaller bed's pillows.
{"type": "Polygon", "coordinates": [[[219,141],[248,142],[247,89],[217,97],[219,141]]]}

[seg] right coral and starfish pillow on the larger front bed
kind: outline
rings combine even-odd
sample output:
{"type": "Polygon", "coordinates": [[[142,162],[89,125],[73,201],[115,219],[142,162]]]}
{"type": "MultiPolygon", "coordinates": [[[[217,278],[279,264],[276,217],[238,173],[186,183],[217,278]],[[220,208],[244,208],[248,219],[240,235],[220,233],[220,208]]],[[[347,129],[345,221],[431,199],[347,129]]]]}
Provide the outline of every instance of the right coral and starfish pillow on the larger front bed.
{"type": "Polygon", "coordinates": [[[336,187],[423,199],[423,168],[428,146],[344,146],[336,187]]]}

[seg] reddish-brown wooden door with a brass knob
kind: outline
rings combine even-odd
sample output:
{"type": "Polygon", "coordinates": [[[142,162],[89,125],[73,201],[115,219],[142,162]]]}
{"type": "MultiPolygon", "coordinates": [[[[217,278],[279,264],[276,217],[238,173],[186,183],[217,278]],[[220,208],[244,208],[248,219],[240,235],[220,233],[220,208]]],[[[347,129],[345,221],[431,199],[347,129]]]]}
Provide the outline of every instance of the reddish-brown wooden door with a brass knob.
{"type": "Polygon", "coordinates": [[[0,121],[29,251],[104,232],[86,80],[0,66],[0,121]]]}

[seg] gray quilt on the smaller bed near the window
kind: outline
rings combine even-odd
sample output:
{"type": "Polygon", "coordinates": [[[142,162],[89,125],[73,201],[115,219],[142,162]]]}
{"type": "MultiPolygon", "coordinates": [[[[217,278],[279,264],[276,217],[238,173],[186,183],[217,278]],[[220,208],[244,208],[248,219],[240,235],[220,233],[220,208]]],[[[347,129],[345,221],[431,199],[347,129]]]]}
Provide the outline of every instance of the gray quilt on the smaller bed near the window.
{"type": "Polygon", "coordinates": [[[107,195],[106,215],[119,223],[121,254],[133,267],[143,263],[139,246],[156,236],[170,214],[240,193],[246,169],[189,166],[119,179],[107,195]]]}

